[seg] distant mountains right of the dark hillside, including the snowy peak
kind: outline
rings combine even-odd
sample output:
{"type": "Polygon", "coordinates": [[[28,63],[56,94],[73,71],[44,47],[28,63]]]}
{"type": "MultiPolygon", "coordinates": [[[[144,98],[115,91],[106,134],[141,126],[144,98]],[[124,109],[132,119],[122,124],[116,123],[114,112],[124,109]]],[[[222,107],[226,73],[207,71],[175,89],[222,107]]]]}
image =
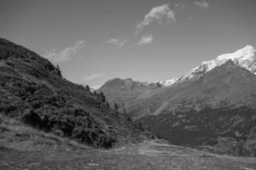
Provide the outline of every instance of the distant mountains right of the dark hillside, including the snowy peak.
{"type": "Polygon", "coordinates": [[[142,82],[131,79],[129,84],[134,85],[128,86],[128,79],[118,79],[118,83],[106,82],[99,91],[173,144],[221,145],[229,139],[239,148],[236,152],[255,155],[255,63],[255,49],[246,46],[203,62],[168,86],[160,82],[154,88],[146,83],[137,86],[142,82]]]}

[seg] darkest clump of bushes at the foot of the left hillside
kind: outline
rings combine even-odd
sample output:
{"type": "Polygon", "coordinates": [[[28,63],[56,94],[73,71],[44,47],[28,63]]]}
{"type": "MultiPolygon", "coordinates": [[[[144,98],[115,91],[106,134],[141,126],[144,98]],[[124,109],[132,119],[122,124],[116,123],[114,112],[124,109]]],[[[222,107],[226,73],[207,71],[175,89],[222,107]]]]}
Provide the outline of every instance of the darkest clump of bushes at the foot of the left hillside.
{"type": "Polygon", "coordinates": [[[62,108],[54,112],[28,111],[23,116],[26,124],[60,136],[77,139],[94,147],[110,148],[117,142],[115,131],[103,131],[90,114],[82,109],[62,108]]]}

